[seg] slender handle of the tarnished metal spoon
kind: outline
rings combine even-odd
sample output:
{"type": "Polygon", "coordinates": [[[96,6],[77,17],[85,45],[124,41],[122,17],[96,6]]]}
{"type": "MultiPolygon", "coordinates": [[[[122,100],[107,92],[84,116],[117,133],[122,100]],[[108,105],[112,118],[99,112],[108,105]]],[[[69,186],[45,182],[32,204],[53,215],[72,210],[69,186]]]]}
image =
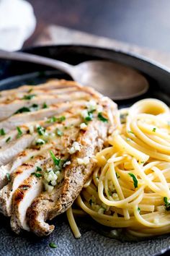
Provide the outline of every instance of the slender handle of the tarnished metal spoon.
{"type": "Polygon", "coordinates": [[[36,64],[42,64],[48,67],[53,67],[55,69],[60,69],[63,72],[71,75],[71,70],[73,66],[67,64],[63,61],[58,61],[55,59],[50,59],[43,56],[38,56],[35,54],[22,53],[20,51],[2,51],[0,50],[0,59],[10,59],[15,61],[28,61],[36,64]]]}

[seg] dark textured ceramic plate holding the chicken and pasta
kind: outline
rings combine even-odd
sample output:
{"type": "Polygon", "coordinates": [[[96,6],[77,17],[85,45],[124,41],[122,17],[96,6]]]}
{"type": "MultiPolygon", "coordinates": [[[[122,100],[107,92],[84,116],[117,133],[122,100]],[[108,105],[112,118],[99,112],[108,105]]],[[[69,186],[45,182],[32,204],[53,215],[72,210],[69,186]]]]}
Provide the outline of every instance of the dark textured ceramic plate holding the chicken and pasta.
{"type": "MultiPolygon", "coordinates": [[[[141,72],[149,82],[148,93],[142,98],[154,97],[170,105],[170,71],[158,64],[138,56],[125,54],[103,48],[86,46],[45,46],[30,48],[27,52],[61,59],[70,64],[79,64],[91,59],[109,59],[133,67],[141,72]]],[[[66,74],[57,70],[19,61],[0,60],[0,90],[17,88],[19,85],[44,82],[50,77],[69,79],[66,74]]],[[[112,86],[112,85],[110,85],[112,86]]],[[[140,98],[117,102],[120,107],[130,106],[140,98]]],[[[9,219],[0,216],[0,255],[162,255],[169,249],[170,237],[159,236],[154,239],[130,242],[130,237],[120,231],[120,240],[109,238],[112,232],[97,225],[90,218],[79,219],[81,238],[74,239],[66,221],[66,216],[53,220],[55,231],[43,239],[34,234],[24,233],[16,236],[9,226],[9,219]],[[108,233],[109,232],[109,233],[108,233]],[[58,245],[56,249],[48,246],[50,242],[58,245]]],[[[168,252],[166,252],[167,255],[168,252]]]]}

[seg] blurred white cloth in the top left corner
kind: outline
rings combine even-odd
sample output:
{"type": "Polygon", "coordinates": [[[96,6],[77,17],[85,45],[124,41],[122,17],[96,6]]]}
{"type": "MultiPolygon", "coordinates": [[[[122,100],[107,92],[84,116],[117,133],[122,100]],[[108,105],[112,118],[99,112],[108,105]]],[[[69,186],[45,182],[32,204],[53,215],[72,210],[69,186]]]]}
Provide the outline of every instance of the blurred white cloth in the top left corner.
{"type": "Polygon", "coordinates": [[[35,30],[36,19],[30,3],[0,0],[0,48],[16,51],[35,30]]]}

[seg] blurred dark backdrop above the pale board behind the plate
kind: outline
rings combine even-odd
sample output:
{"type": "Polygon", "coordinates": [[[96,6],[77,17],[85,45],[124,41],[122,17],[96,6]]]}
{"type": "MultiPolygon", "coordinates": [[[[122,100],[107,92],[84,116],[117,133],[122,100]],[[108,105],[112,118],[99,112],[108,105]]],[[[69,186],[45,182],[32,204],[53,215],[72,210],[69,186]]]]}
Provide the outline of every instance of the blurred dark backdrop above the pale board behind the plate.
{"type": "Polygon", "coordinates": [[[36,37],[55,24],[170,52],[170,0],[29,0],[36,37]]]}

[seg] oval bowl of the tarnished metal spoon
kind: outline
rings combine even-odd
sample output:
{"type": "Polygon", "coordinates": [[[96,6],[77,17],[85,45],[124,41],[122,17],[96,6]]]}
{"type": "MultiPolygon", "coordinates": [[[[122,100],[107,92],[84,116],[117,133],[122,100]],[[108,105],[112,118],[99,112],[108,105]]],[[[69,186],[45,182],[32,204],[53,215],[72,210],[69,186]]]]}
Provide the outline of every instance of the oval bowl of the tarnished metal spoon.
{"type": "Polygon", "coordinates": [[[142,74],[110,61],[82,62],[73,67],[71,76],[114,100],[134,98],[148,90],[148,81],[142,74]]]}

